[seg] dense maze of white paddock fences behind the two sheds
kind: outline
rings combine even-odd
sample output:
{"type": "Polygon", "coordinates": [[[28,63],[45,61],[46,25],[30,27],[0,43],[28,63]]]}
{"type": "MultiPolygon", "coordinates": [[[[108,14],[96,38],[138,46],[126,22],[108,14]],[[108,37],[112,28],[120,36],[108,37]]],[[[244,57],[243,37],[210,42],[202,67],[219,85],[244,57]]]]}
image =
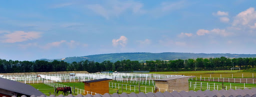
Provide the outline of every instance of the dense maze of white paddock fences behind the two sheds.
{"type": "Polygon", "coordinates": [[[0,75],[1,78],[13,81],[21,81],[24,83],[42,83],[43,81],[50,82],[80,82],[96,79],[112,79],[115,81],[132,82],[143,81],[145,84],[150,84],[152,80],[168,78],[181,75],[162,75],[162,74],[135,74],[135,73],[87,73],[76,74],[70,76],[69,74],[39,74],[39,75],[0,75]]]}

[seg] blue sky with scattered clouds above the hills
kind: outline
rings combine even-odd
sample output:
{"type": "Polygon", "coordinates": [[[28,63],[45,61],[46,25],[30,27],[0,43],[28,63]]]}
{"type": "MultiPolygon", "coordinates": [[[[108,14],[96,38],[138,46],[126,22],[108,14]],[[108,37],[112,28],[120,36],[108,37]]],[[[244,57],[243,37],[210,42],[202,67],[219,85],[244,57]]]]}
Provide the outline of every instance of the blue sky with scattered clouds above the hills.
{"type": "Polygon", "coordinates": [[[256,0],[0,0],[0,59],[256,54],[256,0]]]}

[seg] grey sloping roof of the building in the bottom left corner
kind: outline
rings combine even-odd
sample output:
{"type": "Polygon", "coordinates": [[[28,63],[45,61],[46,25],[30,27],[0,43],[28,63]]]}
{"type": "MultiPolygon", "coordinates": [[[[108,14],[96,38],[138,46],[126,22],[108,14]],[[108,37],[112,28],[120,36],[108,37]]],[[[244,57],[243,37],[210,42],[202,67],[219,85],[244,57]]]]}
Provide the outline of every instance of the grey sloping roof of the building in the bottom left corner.
{"type": "Polygon", "coordinates": [[[27,96],[35,95],[38,97],[44,95],[30,85],[3,78],[0,78],[0,89],[12,91],[27,96]]]}

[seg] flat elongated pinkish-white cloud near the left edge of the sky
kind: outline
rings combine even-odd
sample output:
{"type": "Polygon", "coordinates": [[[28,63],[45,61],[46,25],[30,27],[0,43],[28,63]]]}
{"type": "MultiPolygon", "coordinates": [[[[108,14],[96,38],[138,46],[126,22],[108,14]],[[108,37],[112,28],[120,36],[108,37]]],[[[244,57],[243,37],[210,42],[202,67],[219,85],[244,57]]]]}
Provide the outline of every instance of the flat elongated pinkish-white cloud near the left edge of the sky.
{"type": "Polygon", "coordinates": [[[2,42],[4,43],[15,43],[15,42],[22,42],[27,40],[33,40],[41,37],[40,32],[24,32],[24,31],[14,31],[9,32],[8,34],[4,34],[3,38],[4,40],[2,42]]]}

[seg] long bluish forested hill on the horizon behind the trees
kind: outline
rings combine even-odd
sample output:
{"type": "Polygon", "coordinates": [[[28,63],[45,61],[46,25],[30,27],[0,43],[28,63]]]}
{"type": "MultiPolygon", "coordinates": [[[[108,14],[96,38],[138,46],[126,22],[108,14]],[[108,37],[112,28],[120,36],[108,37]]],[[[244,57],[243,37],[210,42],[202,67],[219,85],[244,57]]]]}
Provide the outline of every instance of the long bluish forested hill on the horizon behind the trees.
{"type": "MultiPolygon", "coordinates": [[[[253,58],[256,57],[256,54],[205,54],[205,53],[174,53],[174,52],[165,52],[165,53],[112,53],[112,54],[99,54],[99,55],[89,55],[82,57],[67,57],[62,59],[54,59],[58,61],[65,61],[68,63],[80,62],[83,60],[89,60],[94,62],[103,62],[103,61],[121,61],[121,60],[137,60],[139,62],[144,62],[147,60],[176,60],[176,59],[196,59],[196,58],[217,58],[217,57],[226,57],[226,58],[253,58]]],[[[49,59],[40,59],[48,62],[53,60],[49,59]]]]}

